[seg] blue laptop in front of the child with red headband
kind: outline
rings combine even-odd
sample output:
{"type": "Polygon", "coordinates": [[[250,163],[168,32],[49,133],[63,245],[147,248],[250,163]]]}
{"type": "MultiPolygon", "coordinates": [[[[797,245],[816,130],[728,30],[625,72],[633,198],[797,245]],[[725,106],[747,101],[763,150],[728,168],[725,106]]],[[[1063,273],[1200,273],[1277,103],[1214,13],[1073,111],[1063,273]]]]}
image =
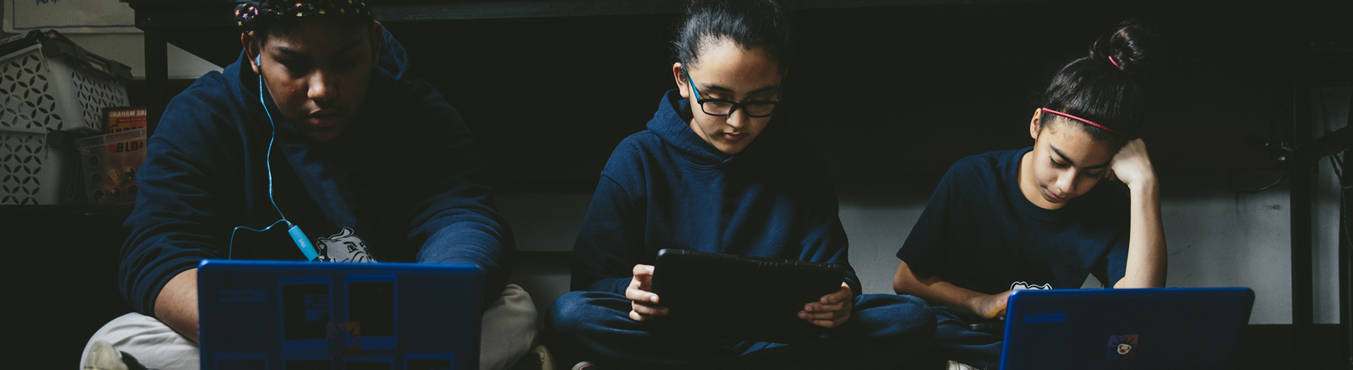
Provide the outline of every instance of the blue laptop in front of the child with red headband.
{"type": "Polygon", "coordinates": [[[1001,369],[1235,369],[1254,291],[1016,290],[1001,369]]]}

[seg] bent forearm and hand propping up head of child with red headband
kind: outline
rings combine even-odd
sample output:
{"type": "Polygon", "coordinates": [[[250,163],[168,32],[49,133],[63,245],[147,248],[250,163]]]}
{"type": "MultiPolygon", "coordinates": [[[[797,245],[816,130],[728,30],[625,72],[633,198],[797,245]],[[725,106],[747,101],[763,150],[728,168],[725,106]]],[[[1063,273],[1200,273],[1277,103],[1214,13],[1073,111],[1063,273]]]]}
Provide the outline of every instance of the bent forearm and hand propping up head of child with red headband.
{"type": "Polygon", "coordinates": [[[1109,179],[1122,180],[1131,194],[1127,268],[1114,287],[1164,287],[1168,264],[1161,225],[1161,187],[1138,138],[1114,156],[1109,179]]]}

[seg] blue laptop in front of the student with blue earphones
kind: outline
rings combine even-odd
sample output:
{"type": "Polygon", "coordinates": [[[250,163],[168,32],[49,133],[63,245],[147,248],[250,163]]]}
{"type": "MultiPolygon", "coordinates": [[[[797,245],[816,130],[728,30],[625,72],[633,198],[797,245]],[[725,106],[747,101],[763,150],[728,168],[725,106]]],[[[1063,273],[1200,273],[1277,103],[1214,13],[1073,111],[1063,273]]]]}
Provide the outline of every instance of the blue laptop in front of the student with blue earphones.
{"type": "Polygon", "coordinates": [[[472,264],[203,260],[204,370],[479,369],[472,264]]]}

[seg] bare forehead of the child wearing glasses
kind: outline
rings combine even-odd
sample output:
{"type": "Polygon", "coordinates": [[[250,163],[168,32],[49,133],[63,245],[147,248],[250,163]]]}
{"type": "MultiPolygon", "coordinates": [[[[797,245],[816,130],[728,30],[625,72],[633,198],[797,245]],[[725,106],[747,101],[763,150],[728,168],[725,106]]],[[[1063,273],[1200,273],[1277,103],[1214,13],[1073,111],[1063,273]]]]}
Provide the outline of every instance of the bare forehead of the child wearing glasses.
{"type": "Polygon", "coordinates": [[[779,65],[762,47],[743,49],[728,39],[701,41],[700,56],[689,70],[700,84],[756,89],[778,84],[779,65]]]}

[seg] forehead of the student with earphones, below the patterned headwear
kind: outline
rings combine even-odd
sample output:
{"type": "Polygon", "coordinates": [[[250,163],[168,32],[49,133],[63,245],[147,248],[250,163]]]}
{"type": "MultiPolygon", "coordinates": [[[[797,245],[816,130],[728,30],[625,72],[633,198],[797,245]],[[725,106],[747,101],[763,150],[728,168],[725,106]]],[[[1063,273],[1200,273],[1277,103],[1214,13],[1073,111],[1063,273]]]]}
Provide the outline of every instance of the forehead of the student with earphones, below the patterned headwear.
{"type": "Polygon", "coordinates": [[[283,47],[303,54],[329,54],[353,46],[367,46],[368,27],[340,19],[299,19],[269,27],[264,49],[283,47]]]}

